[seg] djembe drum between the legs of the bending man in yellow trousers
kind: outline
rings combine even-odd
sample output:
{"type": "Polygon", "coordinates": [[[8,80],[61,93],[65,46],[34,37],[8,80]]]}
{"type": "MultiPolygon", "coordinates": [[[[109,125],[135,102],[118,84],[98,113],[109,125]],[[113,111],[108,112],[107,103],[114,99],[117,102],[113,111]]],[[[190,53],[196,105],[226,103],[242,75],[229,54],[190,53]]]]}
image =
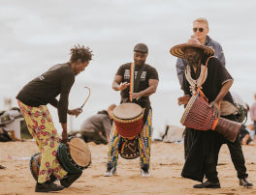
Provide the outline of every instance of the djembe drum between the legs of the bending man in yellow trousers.
{"type": "MultiPolygon", "coordinates": [[[[67,144],[59,143],[56,157],[65,171],[68,173],[80,173],[91,162],[91,153],[87,144],[80,138],[72,137],[67,144]]],[[[41,164],[41,153],[35,153],[30,158],[30,171],[37,181],[41,164]]],[[[50,181],[56,178],[50,175],[50,181]]]]}

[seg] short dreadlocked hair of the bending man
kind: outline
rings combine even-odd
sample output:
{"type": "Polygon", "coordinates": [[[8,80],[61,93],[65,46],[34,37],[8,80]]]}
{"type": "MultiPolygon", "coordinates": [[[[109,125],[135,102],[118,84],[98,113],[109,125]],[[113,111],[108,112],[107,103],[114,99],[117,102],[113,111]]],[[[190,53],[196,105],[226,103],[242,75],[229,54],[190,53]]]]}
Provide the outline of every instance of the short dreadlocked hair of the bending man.
{"type": "Polygon", "coordinates": [[[90,48],[87,46],[86,48],[84,47],[84,45],[75,45],[73,48],[70,49],[70,62],[74,63],[74,62],[78,62],[79,60],[81,60],[82,63],[86,62],[86,61],[90,61],[92,59],[92,50],[90,50],[90,48]]]}

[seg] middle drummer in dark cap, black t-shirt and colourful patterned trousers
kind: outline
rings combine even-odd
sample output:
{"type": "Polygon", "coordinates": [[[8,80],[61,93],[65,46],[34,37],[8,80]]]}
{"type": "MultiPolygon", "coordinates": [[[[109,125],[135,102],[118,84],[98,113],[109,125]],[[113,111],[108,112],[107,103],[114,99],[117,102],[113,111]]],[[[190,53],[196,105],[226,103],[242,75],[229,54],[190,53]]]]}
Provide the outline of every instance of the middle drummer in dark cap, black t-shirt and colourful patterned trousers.
{"type": "MultiPolygon", "coordinates": [[[[144,43],[139,43],[134,47],[134,63],[127,63],[119,67],[113,82],[112,89],[120,91],[121,103],[133,102],[144,108],[144,126],[137,136],[139,142],[139,152],[141,159],[141,174],[143,177],[149,177],[150,146],[151,146],[151,107],[149,96],[156,92],[158,86],[157,71],[145,64],[148,49],[144,43]],[[132,66],[134,66],[132,68],[132,66]],[[135,83],[138,87],[135,91],[129,91],[131,69],[134,69],[135,83]],[[140,77],[137,78],[137,75],[140,77]],[[138,80],[139,84],[136,83],[138,80]]],[[[135,87],[135,88],[137,88],[135,87]]],[[[106,177],[112,176],[116,171],[116,164],[121,145],[121,136],[117,133],[115,125],[112,126],[109,158],[107,163],[106,177]]]]}

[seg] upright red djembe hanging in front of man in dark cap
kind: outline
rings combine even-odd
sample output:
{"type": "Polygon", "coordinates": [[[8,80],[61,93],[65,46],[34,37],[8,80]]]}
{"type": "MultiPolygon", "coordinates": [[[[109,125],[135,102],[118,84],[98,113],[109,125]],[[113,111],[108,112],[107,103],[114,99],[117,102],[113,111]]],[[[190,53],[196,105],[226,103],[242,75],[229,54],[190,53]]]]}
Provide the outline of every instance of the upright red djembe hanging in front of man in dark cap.
{"type": "Polygon", "coordinates": [[[113,109],[113,122],[121,136],[120,155],[126,159],[138,157],[138,134],[144,125],[144,109],[136,103],[122,103],[113,109]]]}

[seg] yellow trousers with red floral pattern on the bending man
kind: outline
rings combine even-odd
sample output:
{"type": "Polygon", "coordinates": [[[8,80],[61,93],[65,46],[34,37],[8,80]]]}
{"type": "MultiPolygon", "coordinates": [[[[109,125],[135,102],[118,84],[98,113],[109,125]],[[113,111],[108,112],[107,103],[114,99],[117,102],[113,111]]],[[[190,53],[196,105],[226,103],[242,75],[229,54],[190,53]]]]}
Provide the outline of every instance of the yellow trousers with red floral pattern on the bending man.
{"type": "Polygon", "coordinates": [[[48,112],[48,107],[46,105],[31,107],[19,100],[17,100],[17,103],[25,118],[28,130],[42,154],[38,182],[49,181],[51,174],[58,180],[63,179],[67,172],[61,167],[56,158],[59,136],[48,112]]]}

